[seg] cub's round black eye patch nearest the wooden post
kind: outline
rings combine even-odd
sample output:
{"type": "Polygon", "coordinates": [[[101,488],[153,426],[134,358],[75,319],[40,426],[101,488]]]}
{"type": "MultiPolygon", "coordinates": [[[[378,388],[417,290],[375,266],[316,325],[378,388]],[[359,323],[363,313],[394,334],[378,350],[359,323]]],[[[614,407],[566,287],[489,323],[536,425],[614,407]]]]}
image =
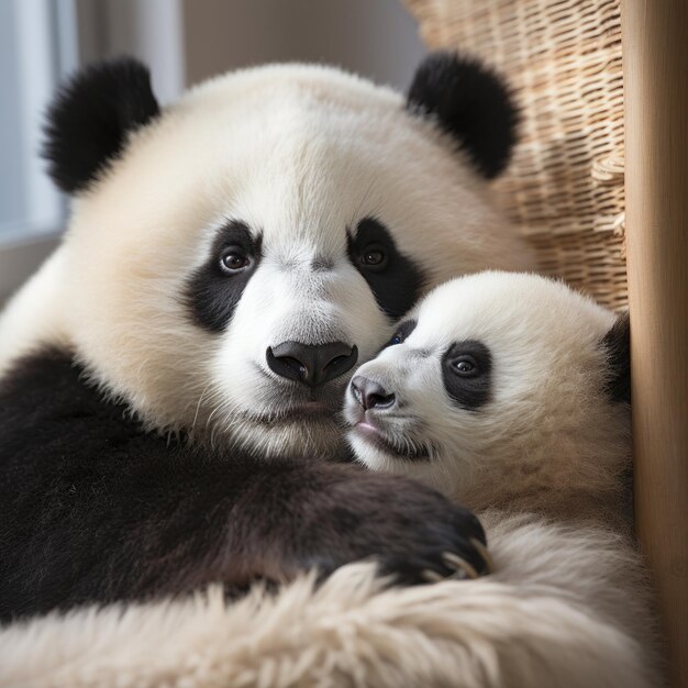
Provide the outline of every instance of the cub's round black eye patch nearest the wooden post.
{"type": "Polygon", "coordinates": [[[455,342],[442,356],[442,381],[462,409],[476,411],[491,393],[492,356],[482,342],[455,342]]]}

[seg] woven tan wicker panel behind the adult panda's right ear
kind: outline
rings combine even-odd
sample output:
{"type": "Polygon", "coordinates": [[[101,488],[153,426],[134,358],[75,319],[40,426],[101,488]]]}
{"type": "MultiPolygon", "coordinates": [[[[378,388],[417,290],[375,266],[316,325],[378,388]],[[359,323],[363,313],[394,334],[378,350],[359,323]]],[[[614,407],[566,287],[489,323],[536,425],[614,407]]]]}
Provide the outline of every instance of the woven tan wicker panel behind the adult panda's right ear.
{"type": "Polygon", "coordinates": [[[521,109],[497,182],[540,269],[626,306],[619,0],[404,0],[432,48],[481,57],[521,109]]]}

